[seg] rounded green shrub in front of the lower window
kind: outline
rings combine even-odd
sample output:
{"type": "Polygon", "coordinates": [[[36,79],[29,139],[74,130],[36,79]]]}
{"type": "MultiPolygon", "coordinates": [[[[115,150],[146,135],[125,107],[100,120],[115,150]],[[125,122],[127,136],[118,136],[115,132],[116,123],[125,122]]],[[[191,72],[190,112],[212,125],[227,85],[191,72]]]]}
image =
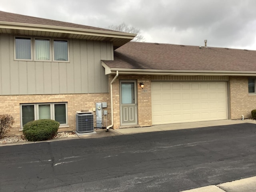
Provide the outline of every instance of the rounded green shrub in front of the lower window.
{"type": "Polygon", "coordinates": [[[45,141],[54,138],[59,126],[51,119],[30,121],[23,126],[23,134],[28,141],[45,141]]]}

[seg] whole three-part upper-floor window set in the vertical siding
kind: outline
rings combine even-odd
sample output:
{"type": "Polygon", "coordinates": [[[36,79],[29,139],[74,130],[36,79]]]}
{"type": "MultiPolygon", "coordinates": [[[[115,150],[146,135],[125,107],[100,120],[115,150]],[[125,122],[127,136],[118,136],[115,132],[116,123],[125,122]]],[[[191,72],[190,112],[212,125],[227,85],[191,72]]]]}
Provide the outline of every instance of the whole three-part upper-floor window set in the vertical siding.
{"type": "Polygon", "coordinates": [[[15,60],[68,61],[68,40],[15,37],[15,60]]]}

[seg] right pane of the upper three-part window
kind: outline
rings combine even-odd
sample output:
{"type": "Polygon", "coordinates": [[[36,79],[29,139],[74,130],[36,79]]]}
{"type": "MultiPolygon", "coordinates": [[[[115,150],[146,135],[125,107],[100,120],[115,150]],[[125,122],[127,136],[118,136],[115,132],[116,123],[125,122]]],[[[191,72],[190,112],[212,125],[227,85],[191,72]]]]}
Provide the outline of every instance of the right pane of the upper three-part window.
{"type": "Polygon", "coordinates": [[[54,60],[68,61],[68,41],[54,40],[54,60]]]}

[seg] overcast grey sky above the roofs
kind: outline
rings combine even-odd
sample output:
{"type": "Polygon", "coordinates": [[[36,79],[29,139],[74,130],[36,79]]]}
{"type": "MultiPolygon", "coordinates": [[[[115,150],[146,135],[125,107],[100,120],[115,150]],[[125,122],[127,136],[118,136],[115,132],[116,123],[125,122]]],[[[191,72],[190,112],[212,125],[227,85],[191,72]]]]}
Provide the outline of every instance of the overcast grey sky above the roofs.
{"type": "Polygon", "coordinates": [[[0,0],[0,10],[101,28],[125,22],[146,42],[256,50],[256,0],[0,0]]]}

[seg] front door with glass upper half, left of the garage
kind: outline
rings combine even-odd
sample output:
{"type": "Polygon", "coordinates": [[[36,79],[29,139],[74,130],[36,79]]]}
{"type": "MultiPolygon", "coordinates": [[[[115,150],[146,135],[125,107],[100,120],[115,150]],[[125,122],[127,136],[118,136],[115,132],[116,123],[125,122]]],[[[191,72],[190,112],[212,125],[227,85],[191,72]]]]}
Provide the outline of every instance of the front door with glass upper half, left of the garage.
{"type": "Polygon", "coordinates": [[[135,80],[120,81],[121,126],[137,125],[137,86],[135,80]]]}

